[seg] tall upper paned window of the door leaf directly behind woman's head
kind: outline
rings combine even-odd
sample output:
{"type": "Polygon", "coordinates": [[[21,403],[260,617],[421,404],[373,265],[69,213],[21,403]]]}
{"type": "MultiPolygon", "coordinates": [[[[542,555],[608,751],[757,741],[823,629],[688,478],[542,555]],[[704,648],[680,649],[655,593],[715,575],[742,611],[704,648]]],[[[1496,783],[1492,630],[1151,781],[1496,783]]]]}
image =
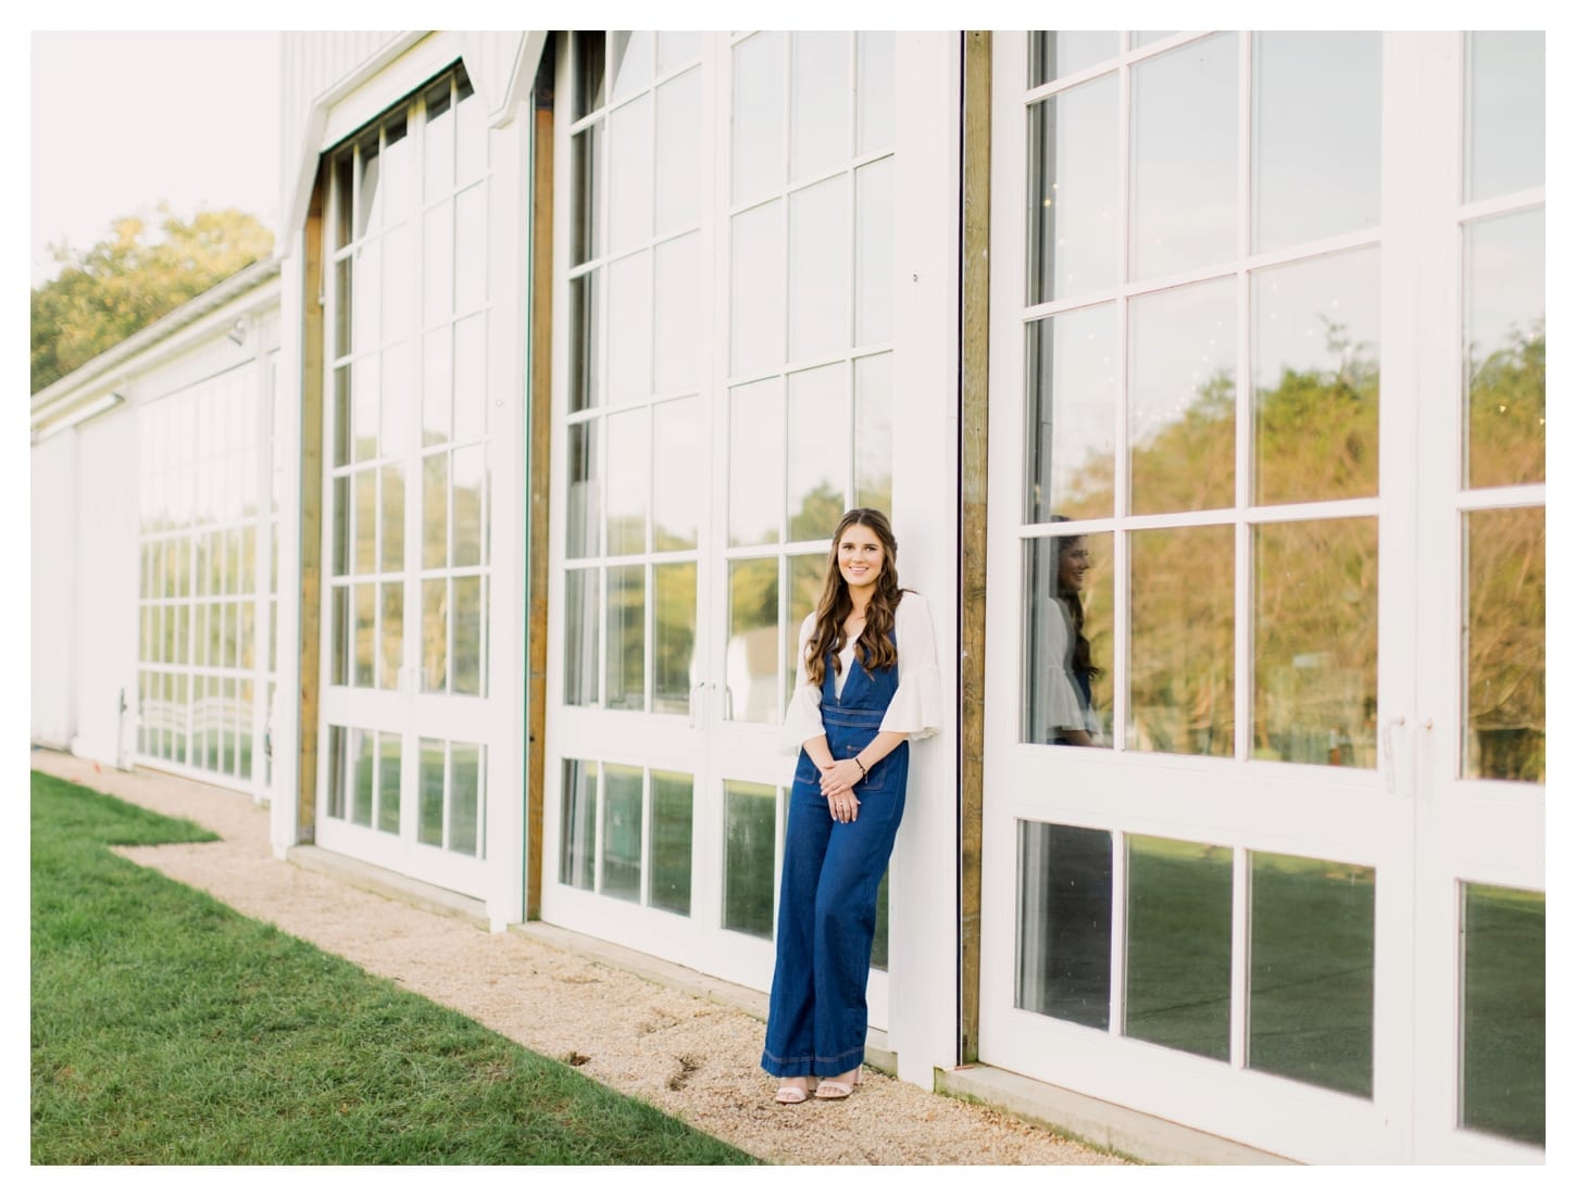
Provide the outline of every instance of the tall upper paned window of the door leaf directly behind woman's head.
{"type": "Polygon", "coordinates": [[[731,46],[725,717],[774,723],[851,506],[892,504],[894,35],[731,46]]]}

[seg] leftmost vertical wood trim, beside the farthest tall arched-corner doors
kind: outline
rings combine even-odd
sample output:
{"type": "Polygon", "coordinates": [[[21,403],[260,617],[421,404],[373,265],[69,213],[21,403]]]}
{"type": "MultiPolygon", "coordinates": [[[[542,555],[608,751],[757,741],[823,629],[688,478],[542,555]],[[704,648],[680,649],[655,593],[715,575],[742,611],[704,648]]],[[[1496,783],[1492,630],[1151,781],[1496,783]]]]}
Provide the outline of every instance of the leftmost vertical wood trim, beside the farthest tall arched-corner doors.
{"type": "Polygon", "coordinates": [[[301,704],[296,728],[296,843],[317,837],[318,660],[323,626],[323,200],[318,165],[304,228],[301,271],[301,704]]]}

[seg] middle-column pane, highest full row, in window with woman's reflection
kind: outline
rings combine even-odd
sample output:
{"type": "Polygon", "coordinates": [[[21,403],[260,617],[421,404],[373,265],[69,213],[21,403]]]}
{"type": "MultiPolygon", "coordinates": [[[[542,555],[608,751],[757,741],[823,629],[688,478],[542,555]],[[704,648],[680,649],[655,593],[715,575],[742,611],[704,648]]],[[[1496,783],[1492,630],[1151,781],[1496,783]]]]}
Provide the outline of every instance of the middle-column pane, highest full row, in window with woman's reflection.
{"type": "Polygon", "coordinates": [[[1237,254],[1237,35],[1133,68],[1128,274],[1150,279],[1237,254]]]}

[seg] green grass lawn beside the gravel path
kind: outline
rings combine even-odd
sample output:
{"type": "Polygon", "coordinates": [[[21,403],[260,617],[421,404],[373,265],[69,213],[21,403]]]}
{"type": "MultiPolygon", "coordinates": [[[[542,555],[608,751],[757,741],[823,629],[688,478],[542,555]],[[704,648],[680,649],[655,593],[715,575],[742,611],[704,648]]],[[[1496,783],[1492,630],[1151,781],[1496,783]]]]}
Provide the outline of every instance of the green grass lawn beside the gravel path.
{"type": "Polygon", "coordinates": [[[107,849],[202,827],[32,788],[33,1163],[756,1161],[107,849]]]}

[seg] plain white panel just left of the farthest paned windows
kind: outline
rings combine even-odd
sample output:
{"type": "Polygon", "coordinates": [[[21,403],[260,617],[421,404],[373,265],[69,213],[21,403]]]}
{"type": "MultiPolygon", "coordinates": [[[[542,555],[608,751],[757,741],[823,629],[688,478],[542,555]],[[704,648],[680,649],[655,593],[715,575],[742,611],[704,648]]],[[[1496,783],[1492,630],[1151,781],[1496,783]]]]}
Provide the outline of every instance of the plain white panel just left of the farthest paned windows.
{"type": "Polygon", "coordinates": [[[125,408],[76,433],[76,695],[72,753],[120,766],[137,717],[137,421],[125,408]],[[126,714],[121,717],[121,701],[126,714]]]}

